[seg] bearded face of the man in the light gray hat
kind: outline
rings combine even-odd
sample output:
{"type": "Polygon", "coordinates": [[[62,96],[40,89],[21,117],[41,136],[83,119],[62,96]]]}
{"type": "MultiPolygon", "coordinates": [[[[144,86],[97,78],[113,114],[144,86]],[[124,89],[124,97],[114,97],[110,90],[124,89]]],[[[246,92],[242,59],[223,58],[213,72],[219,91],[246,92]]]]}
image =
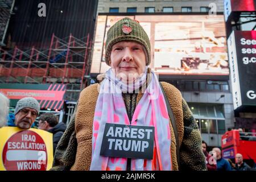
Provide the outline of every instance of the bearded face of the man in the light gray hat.
{"type": "Polygon", "coordinates": [[[25,107],[15,115],[15,125],[20,129],[30,129],[37,116],[35,109],[25,107]]]}

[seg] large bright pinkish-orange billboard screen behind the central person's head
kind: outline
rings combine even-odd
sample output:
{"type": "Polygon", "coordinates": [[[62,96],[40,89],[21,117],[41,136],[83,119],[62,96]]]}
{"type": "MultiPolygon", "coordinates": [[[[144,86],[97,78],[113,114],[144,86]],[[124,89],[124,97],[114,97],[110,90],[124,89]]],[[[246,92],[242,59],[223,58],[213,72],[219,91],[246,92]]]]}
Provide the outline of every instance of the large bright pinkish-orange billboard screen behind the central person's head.
{"type": "MultiPolygon", "coordinates": [[[[91,73],[104,73],[106,32],[125,16],[99,15],[91,73]]],[[[163,75],[229,75],[223,15],[134,15],[151,43],[150,67],[163,75]]]]}

